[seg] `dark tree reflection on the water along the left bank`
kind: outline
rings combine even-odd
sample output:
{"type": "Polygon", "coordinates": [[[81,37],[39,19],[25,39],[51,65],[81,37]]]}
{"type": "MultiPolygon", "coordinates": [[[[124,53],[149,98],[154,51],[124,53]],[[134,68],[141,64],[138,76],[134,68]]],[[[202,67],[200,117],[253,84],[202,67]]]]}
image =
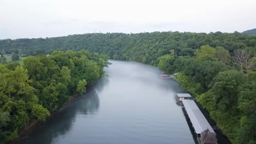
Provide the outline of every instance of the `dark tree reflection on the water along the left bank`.
{"type": "MultiPolygon", "coordinates": [[[[103,88],[104,85],[97,88],[103,88]]],[[[63,137],[68,134],[75,123],[75,117],[80,115],[93,115],[100,107],[100,99],[96,89],[90,88],[83,97],[78,98],[69,104],[66,109],[57,113],[50,121],[40,125],[32,130],[29,136],[16,143],[34,143],[48,144],[55,143],[58,137],[63,137]],[[43,139],[43,141],[40,141],[43,139]]]]}

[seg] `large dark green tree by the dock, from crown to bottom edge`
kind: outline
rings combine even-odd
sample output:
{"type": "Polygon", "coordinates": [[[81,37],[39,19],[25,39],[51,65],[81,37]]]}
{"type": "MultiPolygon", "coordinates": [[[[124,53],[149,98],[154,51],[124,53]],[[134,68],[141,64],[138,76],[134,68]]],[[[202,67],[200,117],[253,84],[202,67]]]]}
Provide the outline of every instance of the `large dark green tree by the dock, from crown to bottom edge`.
{"type": "Polygon", "coordinates": [[[229,70],[220,72],[214,77],[210,90],[200,95],[198,101],[210,112],[211,117],[217,122],[230,140],[236,142],[236,129],[240,127],[240,118],[243,113],[238,109],[239,88],[245,83],[246,76],[239,71],[229,70]]]}

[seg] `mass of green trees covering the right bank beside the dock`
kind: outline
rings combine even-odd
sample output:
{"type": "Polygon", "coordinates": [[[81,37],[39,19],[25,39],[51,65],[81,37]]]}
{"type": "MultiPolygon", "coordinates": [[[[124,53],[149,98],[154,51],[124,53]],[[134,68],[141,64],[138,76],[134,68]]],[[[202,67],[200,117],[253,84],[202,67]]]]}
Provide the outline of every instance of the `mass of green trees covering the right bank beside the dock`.
{"type": "Polygon", "coordinates": [[[195,95],[232,143],[256,143],[255,47],[230,55],[223,47],[203,45],[185,56],[171,50],[158,61],[195,95]]]}

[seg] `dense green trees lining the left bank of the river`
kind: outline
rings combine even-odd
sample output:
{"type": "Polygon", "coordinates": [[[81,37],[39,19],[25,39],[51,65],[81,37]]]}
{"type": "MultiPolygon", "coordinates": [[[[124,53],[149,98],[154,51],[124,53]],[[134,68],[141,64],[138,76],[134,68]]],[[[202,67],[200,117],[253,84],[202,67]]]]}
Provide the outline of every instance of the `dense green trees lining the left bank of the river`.
{"type": "Polygon", "coordinates": [[[18,137],[35,119],[45,121],[72,94],[85,92],[104,76],[108,56],[85,50],[54,51],[18,62],[0,64],[0,143],[18,137]]]}

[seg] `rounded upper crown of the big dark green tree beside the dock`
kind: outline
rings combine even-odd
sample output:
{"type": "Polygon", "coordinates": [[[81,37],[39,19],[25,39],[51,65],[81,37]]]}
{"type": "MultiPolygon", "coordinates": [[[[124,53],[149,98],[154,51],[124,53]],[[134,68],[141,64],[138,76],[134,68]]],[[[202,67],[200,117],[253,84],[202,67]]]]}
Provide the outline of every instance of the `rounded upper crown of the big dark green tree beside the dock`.
{"type": "Polygon", "coordinates": [[[199,98],[199,101],[202,105],[205,105],[208,110],[220,110],[225,112],[226,110],[232,110],[232,107],[237,110],[239,87],[245,80],[245,75],[239,71],[228,70],[220,72],[214,77],[210,85],[210,91],[203,94],[199,98]]]}

